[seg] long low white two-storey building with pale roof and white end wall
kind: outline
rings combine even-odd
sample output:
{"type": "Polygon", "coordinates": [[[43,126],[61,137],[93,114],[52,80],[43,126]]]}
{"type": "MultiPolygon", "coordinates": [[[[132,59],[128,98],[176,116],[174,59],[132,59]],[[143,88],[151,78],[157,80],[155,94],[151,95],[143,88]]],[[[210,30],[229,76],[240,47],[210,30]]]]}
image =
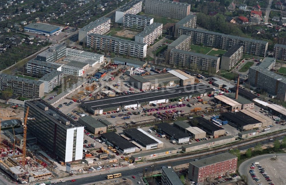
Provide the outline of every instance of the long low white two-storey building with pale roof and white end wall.
{"type": "Polygon", "coordinates": [[[99,63],[102,63],[103,60],[104,60],[104,55],[101,55],[101,54],[98,54],[98,53],[92,53],[92,52],[88,52],[88,51],[81,51],[81,50],[77,50],[77,49],[71,49],[71,48],[67,48],[66,49],[65,55],[82,57],[82,58],[86,58],[86,59],[92,59],[92,60],[98,61],[99,63]]]}

